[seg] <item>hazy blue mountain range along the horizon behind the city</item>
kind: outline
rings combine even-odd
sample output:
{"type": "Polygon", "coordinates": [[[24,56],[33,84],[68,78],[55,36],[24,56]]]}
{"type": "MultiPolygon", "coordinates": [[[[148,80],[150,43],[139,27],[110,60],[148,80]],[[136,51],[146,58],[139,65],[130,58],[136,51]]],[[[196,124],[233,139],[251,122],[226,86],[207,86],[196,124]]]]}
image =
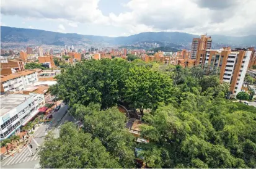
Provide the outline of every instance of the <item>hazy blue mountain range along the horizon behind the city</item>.
{"type": "MultiPolygon", "coordinates": [[[[213,39],[212,48],[223,46],[251,47],[256,45],[256,35],[224,36],[208,35],[213,39]]],[[[26,46],[128,46],[140,42],[161,43],[162,45],[189,48],[192,39],[198,35],[181,32],[144,32],[131,36],[108,37],[94,35],[80,35],[77,33],[58,33],[53,31],[35,30],[27,28],[12,28],[1,26],[1,48],[26,46]]]]}

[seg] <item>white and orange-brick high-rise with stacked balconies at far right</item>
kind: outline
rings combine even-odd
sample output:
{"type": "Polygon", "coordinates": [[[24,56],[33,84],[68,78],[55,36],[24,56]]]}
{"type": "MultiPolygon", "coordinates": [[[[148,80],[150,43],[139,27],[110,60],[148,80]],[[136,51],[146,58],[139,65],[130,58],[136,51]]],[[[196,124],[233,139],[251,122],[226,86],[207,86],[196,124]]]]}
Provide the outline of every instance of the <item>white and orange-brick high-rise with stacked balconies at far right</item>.
{"type": "Polygon", "coordinates": [[[233,94],[236,95],[241,91],[250,57],[253,54],[251,48],[223,47],[219,50],[199,51],[198,54],[200,58],[196,59],[196,63],[205,65],[206,71],[218,71],[220,80],[231,84],[230,91],[233,94]]]}

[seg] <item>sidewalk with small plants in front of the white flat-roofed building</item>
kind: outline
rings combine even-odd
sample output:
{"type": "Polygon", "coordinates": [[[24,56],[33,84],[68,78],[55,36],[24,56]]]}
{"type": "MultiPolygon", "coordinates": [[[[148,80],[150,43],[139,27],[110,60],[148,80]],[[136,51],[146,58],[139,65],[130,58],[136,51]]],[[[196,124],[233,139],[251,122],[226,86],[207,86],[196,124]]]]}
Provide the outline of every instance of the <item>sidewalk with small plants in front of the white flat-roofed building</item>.
{"type": "MultiPolygon", "coordinates": [[[[41,126],[42,124],[43,124],[43,123],[40,123],[39,126],[38,126],[38,125],[35,126],[35,130],[32,130],[32,131],[33,131],[33,134],[35,134],[35,132],[40,128],[40,126],[41,126]]],[[[22,138],[23,133],[24,133],[24,132],[21,132],[21,133],[18,134],[19,136],[20,136],[20,134],[21,134],[21,139],[20,139],[20,142],[19,142],[19,146],[17,146],[17,144],[11,144],[11,145],[8,146],[8,147],[9,147],[9,149],[8,149],[9,154],[7,154],[6,147],[1,147],[1,162],[2,162],[3,160],[7,159],[8,157],[11,157],[11,156],[14,155],[15,153],[19,152],[19,150],[22,149],[24,146],[26,146],[27,143],[32,139],[33,134],[29,134],[29,138],[28,138],[28,139],[25,138],[25,140],[23,140],[23,138],[22,138]],[[20,144],[20,143],[21,143],[21,144],[20,144]],[[11,151],[10,149],[12,149],[12,147],[13,147],[14,150],[11,151]],[[3,153],[2,153],[2,148],[5,149],[5,151],[4,151],[3,153]]],[[[28,133],[31,133],[31,131],[28,131],[28,133]]],[[[25,132],[24,135],[27,136],[27,133],[25,132]]]]}

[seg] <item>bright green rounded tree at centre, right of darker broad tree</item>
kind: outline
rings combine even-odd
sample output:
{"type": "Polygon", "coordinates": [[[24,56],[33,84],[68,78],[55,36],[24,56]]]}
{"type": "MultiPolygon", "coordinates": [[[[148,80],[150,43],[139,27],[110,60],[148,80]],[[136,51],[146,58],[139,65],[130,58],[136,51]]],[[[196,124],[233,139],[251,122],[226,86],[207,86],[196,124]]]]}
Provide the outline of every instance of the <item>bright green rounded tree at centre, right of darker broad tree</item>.
{"type": "Polygon", "coordinates": [[[125,101],[138,108],[156,109],[160,102],[172,102],[172,80],[167,75],[148,68],[134,67],[125,83],[125,101]]]}

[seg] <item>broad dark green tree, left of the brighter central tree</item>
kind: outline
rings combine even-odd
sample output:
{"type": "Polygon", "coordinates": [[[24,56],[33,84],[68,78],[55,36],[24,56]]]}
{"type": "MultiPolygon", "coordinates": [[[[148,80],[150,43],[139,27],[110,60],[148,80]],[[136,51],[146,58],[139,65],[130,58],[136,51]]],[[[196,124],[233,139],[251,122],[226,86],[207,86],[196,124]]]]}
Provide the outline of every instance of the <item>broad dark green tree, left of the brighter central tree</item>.
{"type": "Polygon", "coordinates": [[[50,91],[70,105],[93,102],[106,109],[123,97],[121,89],[130,66],[123,59],[85,60],[56,76],[58,85],[51,86],[50,91]]]}

